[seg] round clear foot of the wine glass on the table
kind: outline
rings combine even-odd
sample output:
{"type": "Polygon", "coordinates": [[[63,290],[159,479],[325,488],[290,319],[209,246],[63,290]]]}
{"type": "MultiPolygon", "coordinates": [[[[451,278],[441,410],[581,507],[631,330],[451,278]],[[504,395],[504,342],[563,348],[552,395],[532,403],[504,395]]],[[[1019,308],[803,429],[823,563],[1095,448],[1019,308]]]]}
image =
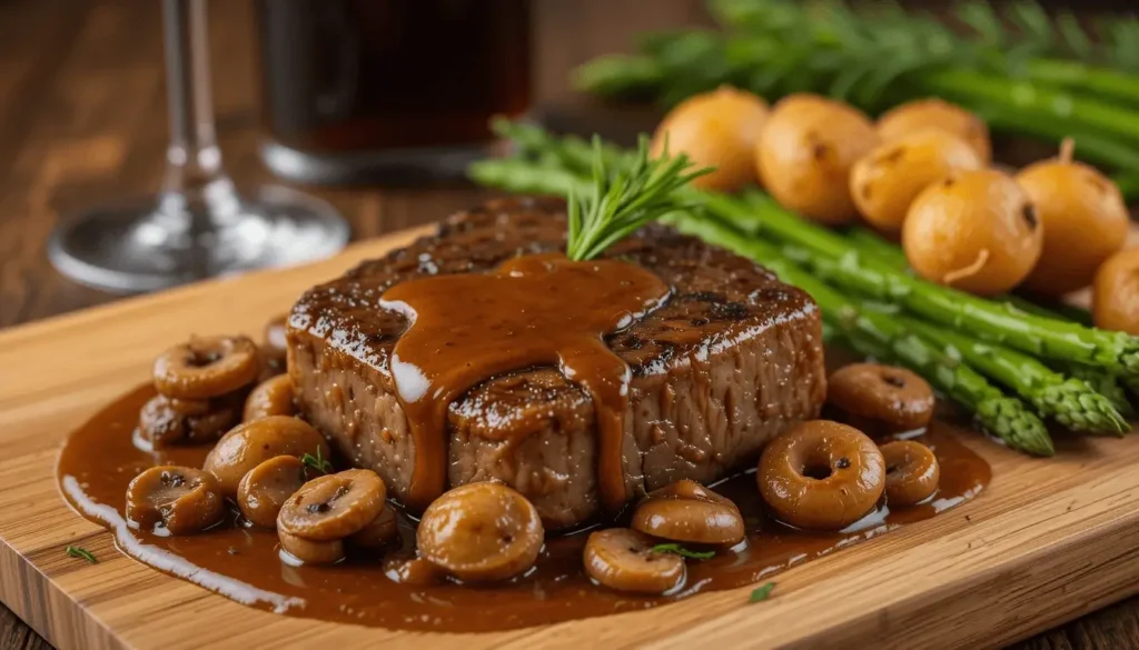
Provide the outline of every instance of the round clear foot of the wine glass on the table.
{"type": "Polygon", "coordinates": [[[320,260],[347,240],[347,223],[333,206],[268,186],[194,204],[169,195],[95,208],[56,229],[48,256],[80,283],[142,293],[320,260]]]}

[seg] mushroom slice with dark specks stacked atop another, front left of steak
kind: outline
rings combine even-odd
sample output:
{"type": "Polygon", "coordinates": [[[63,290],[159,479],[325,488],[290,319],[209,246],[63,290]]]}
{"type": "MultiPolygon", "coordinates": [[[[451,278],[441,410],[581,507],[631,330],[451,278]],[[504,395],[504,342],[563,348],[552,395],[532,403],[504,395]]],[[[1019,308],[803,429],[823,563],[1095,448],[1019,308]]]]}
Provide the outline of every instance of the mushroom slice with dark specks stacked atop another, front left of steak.
{"type": "Polygon", "coordinates": [[[277,528],[328,542],[371,524],[384,509],[387,489],[370,469],[350,469],[304,484],[277,516],[277,528]]]}

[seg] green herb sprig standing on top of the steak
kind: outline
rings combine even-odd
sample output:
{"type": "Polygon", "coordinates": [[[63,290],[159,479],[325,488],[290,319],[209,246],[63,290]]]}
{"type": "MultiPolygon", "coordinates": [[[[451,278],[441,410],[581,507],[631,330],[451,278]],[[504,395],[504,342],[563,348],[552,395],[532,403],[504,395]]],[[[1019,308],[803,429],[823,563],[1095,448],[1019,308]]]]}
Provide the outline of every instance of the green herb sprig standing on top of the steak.
{"type": "Polygon", "coordinates": [[[649,158],[648,138],[641,135],[633,164],[611,176],[601,139],[593,138],[591,192],[570,191],[566,215],[570,233],[566,256],[576,262],[592,260],[649,221],[681,209],[671,195],[697,176],[712,171],[689,171],[688,156],[669,155],[667,142],[658,158],[649,158]]]}

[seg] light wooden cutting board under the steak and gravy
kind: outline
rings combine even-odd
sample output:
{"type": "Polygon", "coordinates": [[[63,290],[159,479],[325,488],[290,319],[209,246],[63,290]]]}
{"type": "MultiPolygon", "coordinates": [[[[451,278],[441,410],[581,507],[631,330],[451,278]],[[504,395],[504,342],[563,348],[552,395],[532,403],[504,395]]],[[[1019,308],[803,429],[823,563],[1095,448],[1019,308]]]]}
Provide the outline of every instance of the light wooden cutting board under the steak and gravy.
{"type": "Polygon", "coordinates": [[[118,553],[75,515],[54,469],[67,431],[148,378],[190,334],[257,334],[306,287],[423,232],[311,266],[122,301],[0,332],[0,600],[60,648],[993,647],[1139,592],[1139,436],[1062,438],[1031,460],[981,436],[976,500],[749,589],[494,634],[424,634],[249,609],[118,553]],[[68,558],[79,544],[98,565],[68,558]]]}

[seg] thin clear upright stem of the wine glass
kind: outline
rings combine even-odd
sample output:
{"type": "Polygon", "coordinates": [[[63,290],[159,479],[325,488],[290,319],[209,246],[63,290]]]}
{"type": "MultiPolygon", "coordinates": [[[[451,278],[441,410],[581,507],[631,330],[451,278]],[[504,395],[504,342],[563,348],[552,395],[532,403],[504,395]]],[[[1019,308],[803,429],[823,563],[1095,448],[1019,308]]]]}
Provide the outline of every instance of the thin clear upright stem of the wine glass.
{"type": "Polygon", "coordinates": [[[163,190],[187,199],[226,180],[214,132],[206,0],[163,0],[163,22],[170,110],[163,190]]]}

